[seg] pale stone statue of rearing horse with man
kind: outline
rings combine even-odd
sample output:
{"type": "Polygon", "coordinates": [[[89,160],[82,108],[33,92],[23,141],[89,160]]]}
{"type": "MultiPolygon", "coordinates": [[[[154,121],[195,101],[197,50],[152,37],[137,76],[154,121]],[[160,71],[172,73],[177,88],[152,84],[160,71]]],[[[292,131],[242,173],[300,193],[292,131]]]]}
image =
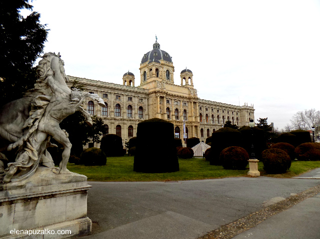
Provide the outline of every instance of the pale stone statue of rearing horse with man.
{"type": "Polygon", "coordinates": [[[6,169],[0,161],[2,183],[23,180],[33,175],[40,164],[52,168],[56,174],[70,174],[66,164],[72,145],[59,123],[75,111],[80,111],[86,122],[92,125],[90,115],[81,107],[86,97],[104,106],[98,95],[68,88],[68,77],[60,53],[49,52],[41,57],[36,67],[34,88],[26,91],[23,98],[0,108],[0,160],[7,160],[5,154],[17,148],[15,161],[8,163],[6,169]],[[49,142],[51,136],[64,147],[58,168],[54,167],[46,150],[56,146],[49,142]]]}

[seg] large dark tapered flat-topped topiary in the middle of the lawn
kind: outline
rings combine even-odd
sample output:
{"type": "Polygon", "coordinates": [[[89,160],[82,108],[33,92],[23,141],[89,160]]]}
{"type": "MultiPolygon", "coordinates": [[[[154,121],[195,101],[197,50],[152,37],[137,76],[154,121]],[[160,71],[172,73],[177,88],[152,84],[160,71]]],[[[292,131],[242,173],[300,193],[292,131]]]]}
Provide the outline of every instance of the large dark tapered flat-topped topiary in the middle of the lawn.
{"type": "Polygon", "coordinates": [[[138,123],[133,171],[142,173],[179,171],[172,123],[158,118],[138,123]]]}

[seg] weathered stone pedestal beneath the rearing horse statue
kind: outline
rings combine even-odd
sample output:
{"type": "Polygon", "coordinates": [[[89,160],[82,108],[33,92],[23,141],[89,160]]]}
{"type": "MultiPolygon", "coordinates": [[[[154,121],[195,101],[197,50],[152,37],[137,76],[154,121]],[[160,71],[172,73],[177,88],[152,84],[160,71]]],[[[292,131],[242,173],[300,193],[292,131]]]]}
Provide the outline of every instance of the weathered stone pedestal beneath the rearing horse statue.
{"type": "Polygon", "coordinates": [[[25,238],[29,233],[35,239],[90,234],[91,220],[86,217],[90,187],[83,175],[56,175],[45,167],[23,181],[1,184],[0,239],[25,238]]]}

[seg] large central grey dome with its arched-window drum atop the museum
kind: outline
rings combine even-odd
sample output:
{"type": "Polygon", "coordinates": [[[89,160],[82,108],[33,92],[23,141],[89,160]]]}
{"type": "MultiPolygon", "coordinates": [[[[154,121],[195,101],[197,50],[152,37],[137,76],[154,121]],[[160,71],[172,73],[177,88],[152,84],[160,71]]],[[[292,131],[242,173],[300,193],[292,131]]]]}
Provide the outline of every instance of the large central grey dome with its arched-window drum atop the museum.
{"type": "Polygon", "coordinates": [[[152,81],[173,84],[174,67],[172,57],[155,41],[152,50],[145,53],[140,63],[140,86],[152,81]]]}

